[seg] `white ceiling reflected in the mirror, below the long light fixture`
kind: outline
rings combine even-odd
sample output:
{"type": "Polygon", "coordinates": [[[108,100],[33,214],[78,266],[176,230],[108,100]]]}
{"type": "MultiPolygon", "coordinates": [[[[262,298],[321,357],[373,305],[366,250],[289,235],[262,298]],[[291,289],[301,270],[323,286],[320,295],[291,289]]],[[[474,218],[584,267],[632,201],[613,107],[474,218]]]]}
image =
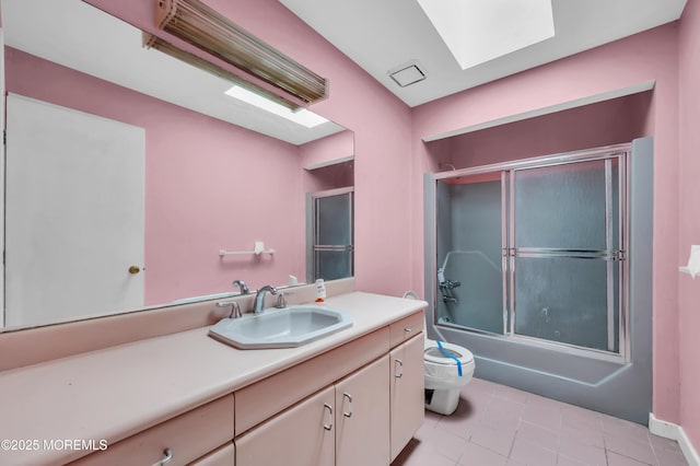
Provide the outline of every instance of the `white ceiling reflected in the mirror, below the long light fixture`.
{"type": "Polygon", "coordinates": [[[229,97],[231,82],[143,48],[139,30],[81,0],[2,0],[2,30],[8,46],[295,145],[345,130],[229,97]]]}

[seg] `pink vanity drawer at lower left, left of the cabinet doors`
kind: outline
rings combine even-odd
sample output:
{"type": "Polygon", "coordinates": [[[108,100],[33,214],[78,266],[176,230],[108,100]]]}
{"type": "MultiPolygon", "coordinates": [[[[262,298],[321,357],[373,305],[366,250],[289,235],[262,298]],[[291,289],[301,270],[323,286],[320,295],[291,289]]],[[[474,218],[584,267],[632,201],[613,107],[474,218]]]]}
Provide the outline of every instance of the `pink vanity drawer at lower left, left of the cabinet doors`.
{"type": "Polygon", "coordinates": [[[109,445],[73,465],[152,465],[171,448],[168,465],[185,465],[233,439],[233,394],[109,445]]]}

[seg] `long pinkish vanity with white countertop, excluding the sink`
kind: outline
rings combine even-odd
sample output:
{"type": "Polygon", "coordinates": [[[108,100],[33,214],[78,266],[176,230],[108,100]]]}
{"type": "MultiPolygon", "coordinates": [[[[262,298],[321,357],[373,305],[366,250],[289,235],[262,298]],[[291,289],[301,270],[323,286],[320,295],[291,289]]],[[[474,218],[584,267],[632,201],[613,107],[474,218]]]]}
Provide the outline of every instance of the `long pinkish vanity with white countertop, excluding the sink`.
{"type": "Polygon", "coordinates": [[[0,371],[0,438],[107,442],[0,451],[0,464],[387,466],[422,421],[424,303],[328,305],[353,326],[300,348],[242,351],[197,327],[0,371]]]}

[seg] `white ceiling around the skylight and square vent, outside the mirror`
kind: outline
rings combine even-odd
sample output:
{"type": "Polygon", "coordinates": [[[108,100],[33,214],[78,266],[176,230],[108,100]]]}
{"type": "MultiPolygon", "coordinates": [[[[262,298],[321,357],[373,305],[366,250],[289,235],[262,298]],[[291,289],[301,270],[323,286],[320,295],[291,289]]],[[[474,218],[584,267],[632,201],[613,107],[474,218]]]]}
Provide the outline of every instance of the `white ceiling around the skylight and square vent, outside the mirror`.
{"type": "Polygon", "coordinates": [[[417,0],[279,1],[401,101],[416,106],[675,21],[687,0],[551,0],[553,38],[466,70],[417,0]],[[387,71],[411,60],[421,63],[428,78],[400,88],[387,71]]]}

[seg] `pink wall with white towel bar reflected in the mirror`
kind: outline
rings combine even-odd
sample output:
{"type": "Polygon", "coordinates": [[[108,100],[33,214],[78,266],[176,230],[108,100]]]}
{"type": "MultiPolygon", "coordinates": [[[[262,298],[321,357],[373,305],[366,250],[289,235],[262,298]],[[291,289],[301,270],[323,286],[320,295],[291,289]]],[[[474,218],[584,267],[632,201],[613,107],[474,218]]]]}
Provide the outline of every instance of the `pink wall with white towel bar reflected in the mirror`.
{"type": "Polygon", "coordinates": [[[299,148],[7,48],[7,89],[145,128],[145,301],[303,277],[299,148]],[[256,174],[252,176],[252,174],[256,174]],[[219,258],[218,251],[269,256],[219,258]]]}

